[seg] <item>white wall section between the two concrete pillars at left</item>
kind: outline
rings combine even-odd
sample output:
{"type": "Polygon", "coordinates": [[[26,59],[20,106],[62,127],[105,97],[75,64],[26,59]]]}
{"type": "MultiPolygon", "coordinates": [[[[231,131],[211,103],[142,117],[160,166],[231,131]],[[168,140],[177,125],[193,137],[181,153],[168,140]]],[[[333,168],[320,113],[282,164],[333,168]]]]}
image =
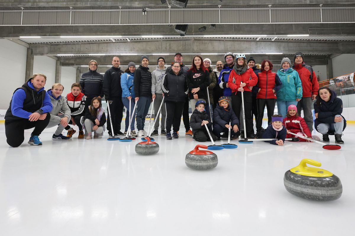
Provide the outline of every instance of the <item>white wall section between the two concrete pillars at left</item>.
{"type": "Polygon", "coordinates": [[[47,76],[45,90],[52,88],[55,82],[55,60],[47,56],[34,56],[33,74],[42,73],[47,76]]]}

